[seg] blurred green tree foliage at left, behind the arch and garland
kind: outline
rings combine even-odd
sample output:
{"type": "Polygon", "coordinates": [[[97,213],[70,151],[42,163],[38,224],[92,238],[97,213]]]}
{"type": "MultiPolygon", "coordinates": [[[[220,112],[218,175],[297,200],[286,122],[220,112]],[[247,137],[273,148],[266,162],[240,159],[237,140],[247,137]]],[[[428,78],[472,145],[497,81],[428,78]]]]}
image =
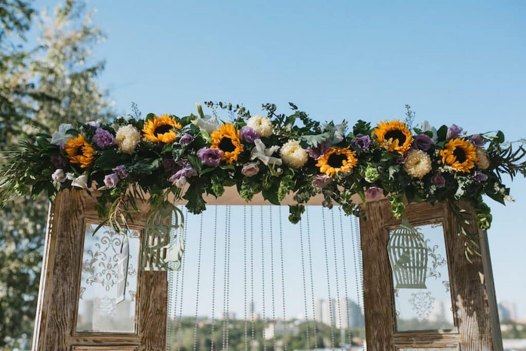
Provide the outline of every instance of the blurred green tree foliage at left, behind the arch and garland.
{"type": "MultiPolygon", "coordinates": [[[[107,91],[96,83],[104,62],[91,57],[104,36],[84,3],[65,1],[36,18],[31,3],[0,0],[0,18],[0,152],[60,123],[109,118],[107,91]],[[27,48],[37,20],[39,45],[27,48]]],[[[47,208],[43,197],[0,208],[0,349],[33,332],[47,208]]]]}

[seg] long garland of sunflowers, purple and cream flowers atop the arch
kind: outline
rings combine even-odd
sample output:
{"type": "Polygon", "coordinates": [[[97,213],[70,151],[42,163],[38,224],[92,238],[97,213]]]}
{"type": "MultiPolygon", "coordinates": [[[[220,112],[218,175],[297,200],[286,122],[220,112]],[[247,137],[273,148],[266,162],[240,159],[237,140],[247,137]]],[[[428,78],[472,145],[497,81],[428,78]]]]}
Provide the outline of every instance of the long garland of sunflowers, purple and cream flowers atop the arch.
{"type": "MultiPolygon", "coordinates": [[[[145,119],[134,106],[135,116],[38,134],[7,155],[0,200],[43,191],[53,199],[61,188],[96,188],[100,215],[118,227],[141,194],[150,195],[153,207],[173,194],[198,214],[205,210],[203,194],[219,197],[225,187],[236,186],[247,202],[261,193],[279,205],[293,193],[293,223],[316,194],[323,194],[323,206],[337,203],[346,214],[360,215],[351,199],[358,194],[362,202],[386,196],[397,218],[411,202],[448,202],[464,218],[466,209],[458,204],[465,200],[478,226],[487,229],[491,214],[483,195],[500,203],[512,200],[502,175],[526,176],[524,141],[512,149],[500,131],[469,135],[457,125],[413,127],[409,106],[404,122],[358,121],[352,128],[347,122],[321,124],[292,103],[289,115],[265,104],[266,116],[253,116],[239,105],[206,106],[212,115],[204,115],[198,104],[198,115],[145,119]],[[221,112],[227,121],[220,120],[221,112]]],[[[462,223],[467,228],[469,222],[462,223]]],[[[466,228],[459,230],[468,238],[466,228]]]]}

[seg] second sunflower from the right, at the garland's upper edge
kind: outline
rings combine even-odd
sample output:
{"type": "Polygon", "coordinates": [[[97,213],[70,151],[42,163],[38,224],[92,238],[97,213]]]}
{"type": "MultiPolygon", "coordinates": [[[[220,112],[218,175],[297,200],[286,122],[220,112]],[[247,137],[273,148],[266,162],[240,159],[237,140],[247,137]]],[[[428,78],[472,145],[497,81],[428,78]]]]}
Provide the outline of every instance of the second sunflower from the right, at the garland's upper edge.
{"type": "Polygon", "coordinates": [[[398,120],[382,121],[376,126],[374,132],[381,147],[387,151],[396,151],[400,155],[408,151],[413,142],[413,136],[407,125],[398,120]]]}

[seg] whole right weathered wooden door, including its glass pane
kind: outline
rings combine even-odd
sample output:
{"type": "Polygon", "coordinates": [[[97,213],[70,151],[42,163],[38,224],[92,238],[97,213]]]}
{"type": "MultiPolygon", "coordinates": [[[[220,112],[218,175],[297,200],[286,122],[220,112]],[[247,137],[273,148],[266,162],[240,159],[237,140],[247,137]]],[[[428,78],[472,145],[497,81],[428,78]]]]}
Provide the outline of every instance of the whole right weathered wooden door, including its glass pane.
{"type": "Polygon", "coordinates": [[[400,221],[393,218],[387,200],[368,203],[366,209],[360,230],[367,349],[501,350],[485,243],[482,257],[469,263],[448,207],[411,204],[406,216],[421,230],[427,262],[412,262],[412,272],[395,265],[393,274],[388,249],[397,247],[389,239],[400,221]]]}

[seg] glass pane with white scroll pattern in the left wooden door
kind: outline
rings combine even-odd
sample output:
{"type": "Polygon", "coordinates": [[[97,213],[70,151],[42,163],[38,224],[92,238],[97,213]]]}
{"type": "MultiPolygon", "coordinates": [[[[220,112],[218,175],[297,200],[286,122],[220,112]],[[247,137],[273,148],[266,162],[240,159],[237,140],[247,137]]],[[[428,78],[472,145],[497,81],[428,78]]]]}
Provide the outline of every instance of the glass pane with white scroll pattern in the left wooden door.
{"type": "Polygon", "coordinates": [[[109,226],[102,226],[94,234],[96,228],[97,224],[86,224],[76,330],[135,333],[140,232],[133,230],[128,235],[126,294],[119,302],[119,260],[127,257],[121,255],[123,235],[109,226]]]}

